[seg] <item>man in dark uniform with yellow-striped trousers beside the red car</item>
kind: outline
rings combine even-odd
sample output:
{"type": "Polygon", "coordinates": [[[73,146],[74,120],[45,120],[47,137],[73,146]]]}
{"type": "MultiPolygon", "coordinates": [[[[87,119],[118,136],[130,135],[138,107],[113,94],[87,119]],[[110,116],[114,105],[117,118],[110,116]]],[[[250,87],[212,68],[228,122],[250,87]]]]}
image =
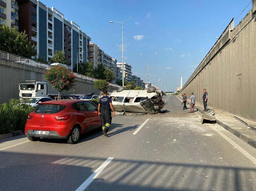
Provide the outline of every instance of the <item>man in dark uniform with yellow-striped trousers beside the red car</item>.
{"type": "Polygon", "coordinates": [[[111,98],[107,96],[107,90],[103,90],[103,96],[99,100],[98,104],[98,112],[99,116],[101,117],[102,121],[102,132],[107,137],[107,132],[109,130],[110,124],[111,124],[111,110],[113,111],[113,117],[115,116],[115,110],[112,105],[111,98]]]}

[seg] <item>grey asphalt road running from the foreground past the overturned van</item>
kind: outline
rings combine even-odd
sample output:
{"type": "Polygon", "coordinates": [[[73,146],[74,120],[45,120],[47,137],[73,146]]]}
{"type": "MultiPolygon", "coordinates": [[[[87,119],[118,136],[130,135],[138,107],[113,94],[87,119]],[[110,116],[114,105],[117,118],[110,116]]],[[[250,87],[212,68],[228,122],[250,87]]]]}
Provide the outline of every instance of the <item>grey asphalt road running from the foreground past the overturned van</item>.
{"type": "Polygon", "coordinates": [[[114,117],[109,137],[94,130],[75,145],[24,135],[0,140],[0,190],[256,190],[253,147],[201,124],[200,113],[182,110],[176,96],[164,99],[165,114],[114,117]]]}

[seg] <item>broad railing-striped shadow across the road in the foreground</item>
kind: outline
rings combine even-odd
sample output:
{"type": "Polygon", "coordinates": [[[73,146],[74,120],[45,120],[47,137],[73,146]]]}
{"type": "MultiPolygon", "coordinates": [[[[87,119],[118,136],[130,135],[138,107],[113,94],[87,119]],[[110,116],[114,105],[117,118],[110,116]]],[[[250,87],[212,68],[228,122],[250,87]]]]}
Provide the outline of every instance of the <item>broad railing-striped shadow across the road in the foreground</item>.
{"type": "MultiPolygon", "coordinates": [[[[0,155],[0,187],[5,191],[75,190],[106,160],[17,152],[0,155]]],[[[86,190],[247,191],[254,190],[255,175],[255,167],[114,158],[86,190]]]]}

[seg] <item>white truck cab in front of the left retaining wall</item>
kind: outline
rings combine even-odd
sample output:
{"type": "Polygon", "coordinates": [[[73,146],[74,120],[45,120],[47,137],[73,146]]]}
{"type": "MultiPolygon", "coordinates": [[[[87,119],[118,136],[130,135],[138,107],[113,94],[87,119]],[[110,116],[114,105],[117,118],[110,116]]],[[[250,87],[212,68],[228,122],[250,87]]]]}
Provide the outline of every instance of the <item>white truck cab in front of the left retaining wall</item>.
{"type": "Polygon", "coordinates": [[[41,81],[23,81],[19,83],[20,100],[47,96],[47,83],[41,81]]]}

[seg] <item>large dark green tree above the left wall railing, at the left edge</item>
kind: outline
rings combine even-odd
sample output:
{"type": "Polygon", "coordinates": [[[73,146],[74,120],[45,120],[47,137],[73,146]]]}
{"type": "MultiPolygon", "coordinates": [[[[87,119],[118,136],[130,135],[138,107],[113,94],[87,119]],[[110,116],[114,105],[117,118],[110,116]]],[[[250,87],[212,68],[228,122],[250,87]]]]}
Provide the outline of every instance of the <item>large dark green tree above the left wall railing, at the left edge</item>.
{"type": "Polygon", "coordinates": [[[28,41],[25,31],[19,32],[15,27],[10,28],[0,24],[0,50],[31,58],[34,53],[33,48],[34,45],[28,41]]]}

